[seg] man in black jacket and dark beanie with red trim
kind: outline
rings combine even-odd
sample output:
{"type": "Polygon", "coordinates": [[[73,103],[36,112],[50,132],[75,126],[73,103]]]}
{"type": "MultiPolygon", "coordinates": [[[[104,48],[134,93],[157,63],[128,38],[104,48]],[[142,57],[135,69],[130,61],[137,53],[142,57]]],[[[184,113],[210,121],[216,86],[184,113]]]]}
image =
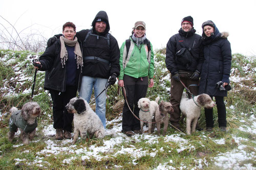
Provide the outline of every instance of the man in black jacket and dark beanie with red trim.
{"type": "Polygon", "coordinates": [[[170,37],[166,45],[165,64],[171,73],[170,103],[174,112],[170,115],[170,123],[181,130],[180,101],[184,90],[182,81],[189,91],[198,94],[198,83],[203,62],[201,36],[195,34],[193,18],[184,17],[178,34],[170,37]],[[186,48],[186,56],[177,56],[176,53],[186,48]]]}

